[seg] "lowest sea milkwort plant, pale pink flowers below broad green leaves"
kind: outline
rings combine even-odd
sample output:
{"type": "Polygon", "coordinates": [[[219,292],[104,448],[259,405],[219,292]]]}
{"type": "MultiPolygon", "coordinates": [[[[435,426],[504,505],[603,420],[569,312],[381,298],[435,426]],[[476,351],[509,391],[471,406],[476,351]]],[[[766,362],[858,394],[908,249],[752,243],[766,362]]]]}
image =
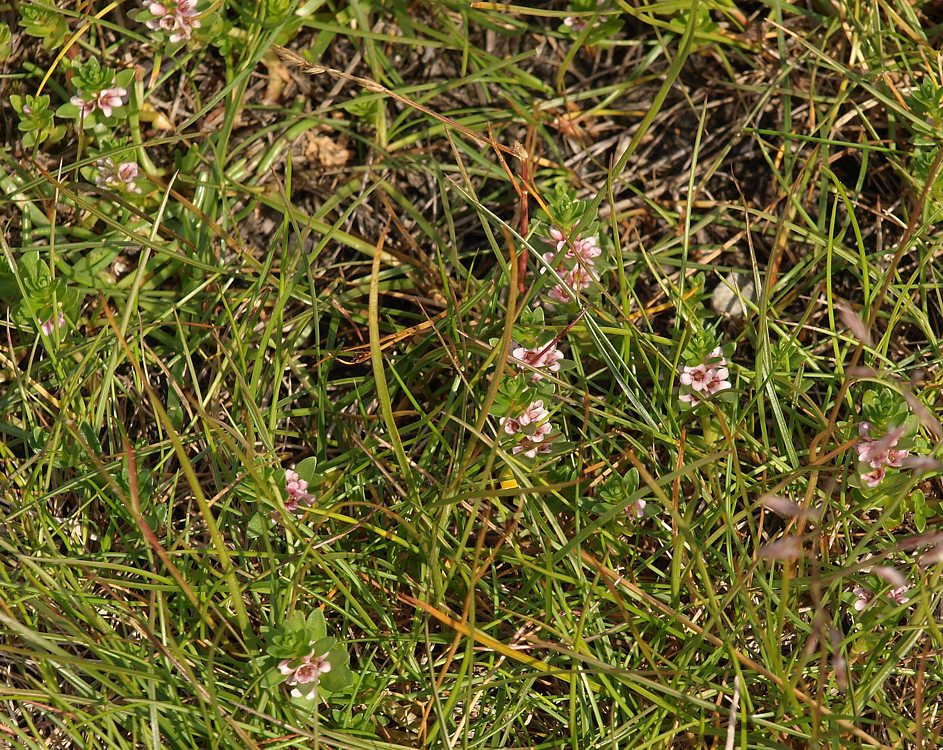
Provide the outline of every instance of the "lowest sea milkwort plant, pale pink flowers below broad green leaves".
{"type": "Polygon", "coordinates": [[[337,693],[353,683],[347,649],[327,634],[320,609],[307,618],[293,612],[281,625],[262,631],[268,643],[267,685],[284,684],[292,698],[311,701],[319,694],[337,693]]]}

